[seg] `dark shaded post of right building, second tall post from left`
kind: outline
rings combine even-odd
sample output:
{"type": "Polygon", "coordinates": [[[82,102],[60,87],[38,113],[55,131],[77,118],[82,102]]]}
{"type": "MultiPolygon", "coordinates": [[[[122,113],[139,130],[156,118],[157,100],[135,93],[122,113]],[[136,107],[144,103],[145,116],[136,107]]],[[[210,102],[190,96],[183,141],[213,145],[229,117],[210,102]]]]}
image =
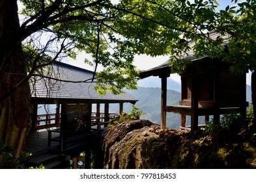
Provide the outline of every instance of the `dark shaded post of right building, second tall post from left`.
{"type": "Polygon", "coordinates": [[[192,75],[191,89],[191,132],[198,130],[198,83],[196,75],[192,75]]]}

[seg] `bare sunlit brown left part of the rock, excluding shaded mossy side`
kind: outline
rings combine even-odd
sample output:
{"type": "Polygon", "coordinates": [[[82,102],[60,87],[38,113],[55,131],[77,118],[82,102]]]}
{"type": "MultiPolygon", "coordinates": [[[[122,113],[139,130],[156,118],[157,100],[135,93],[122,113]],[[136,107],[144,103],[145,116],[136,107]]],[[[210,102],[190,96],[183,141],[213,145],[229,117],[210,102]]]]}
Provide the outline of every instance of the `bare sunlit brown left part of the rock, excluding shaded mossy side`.
{"type": "Polygon", "coordinates": [[[104,140],[104,168],[167,167],[165,139],[171,133],[177,135],[178,132],[174,129],[163,131],[149,120],[122,122],[112,127],[104,140]]]}

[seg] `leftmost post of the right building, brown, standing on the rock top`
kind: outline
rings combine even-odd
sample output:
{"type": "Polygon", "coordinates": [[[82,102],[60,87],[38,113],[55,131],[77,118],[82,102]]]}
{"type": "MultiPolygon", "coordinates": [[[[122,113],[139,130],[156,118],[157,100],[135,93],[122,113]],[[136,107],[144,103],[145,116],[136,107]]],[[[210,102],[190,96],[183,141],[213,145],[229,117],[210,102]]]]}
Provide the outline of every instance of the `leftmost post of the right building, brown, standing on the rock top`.
{"type": "Polygon", "coordinates": [[[162,97],[161,97],[161,129],[166,129],[166,99],[167,99],[167,77],[161,77],[162,97]]]}

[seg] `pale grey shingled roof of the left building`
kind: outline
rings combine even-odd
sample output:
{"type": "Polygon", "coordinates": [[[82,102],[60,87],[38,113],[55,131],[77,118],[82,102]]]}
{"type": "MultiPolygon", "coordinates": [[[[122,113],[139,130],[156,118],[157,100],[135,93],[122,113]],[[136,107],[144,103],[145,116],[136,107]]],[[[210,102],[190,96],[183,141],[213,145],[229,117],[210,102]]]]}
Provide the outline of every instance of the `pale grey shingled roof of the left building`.
{"type": "Polygon", "coordinates": [[[32,97],[36,99],[107,101],[109,103],[135,103],[138,101],[128,93],[114,95],[111,92],[107,92],[105,96],[100,96],[94,90],[96,83],[90,82],[93,73],[83,68],[64,64],[63,62],[55,62],[51,64],[50,69],[46,70],[46,77],[38,77],[36,81],[31,81],[32,97]],[[50,79],[50,77],[53,79],[50,79]]]}

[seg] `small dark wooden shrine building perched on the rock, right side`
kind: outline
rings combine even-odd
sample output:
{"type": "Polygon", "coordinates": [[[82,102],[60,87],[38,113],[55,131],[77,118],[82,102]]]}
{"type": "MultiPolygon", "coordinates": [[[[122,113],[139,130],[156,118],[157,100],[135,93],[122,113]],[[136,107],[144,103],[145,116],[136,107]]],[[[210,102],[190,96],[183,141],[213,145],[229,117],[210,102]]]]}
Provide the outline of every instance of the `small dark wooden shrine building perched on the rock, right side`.
{"type": "MultiPolygon", "coordinates": [[[[215,35],[215,34],[214,34],[215,35]]],[[[213,36],[214,36],[213,35],[213,36]]],[[[162,81],[161,127],[166,128],[166,113],[181,114],[181,129],[192,132],[199,129],[198,117],[209,116],[220,120],[221,114],[240,112],[246,115],[246,73],[230,71],[230,66],[220,59],[193,58],[193,53],[184,59],[191,59],[191,64],[180,73],[181,100],[179,105],[167,105],[167,77],[171,70],[169,62],[140,73],[141,79],[158,76],[162,81]],[[186,116],[191,116],[191,125],[186,125],[186,116]]]]}

